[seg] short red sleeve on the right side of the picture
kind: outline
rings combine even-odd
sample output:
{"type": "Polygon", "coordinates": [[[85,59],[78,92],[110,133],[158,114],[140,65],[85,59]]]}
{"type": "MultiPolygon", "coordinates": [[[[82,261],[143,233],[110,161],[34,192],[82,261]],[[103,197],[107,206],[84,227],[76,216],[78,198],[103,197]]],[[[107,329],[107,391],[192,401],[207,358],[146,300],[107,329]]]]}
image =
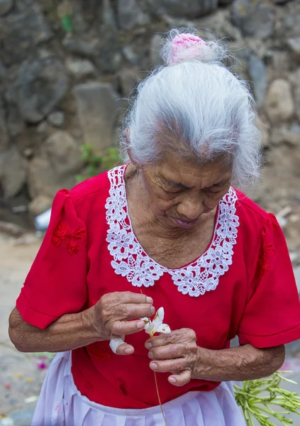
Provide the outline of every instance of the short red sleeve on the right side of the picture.
{"type": "Polygon", "coordinates": [[[284,234],[273,214],[262,229],[255,278],[238,331],[257,348],[300,339],[300,302],[284,234]]]}

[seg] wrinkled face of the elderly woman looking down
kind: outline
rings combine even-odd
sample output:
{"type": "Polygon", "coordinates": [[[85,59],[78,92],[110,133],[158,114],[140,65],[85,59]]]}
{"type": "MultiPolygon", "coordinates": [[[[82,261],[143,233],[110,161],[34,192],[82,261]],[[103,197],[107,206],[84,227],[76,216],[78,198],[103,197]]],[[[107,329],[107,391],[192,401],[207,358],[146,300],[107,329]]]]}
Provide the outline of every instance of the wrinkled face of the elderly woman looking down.
{"type": "Polygon", "coordinates": [[[221,160],[202,166],[167,153],[157,165],[143,168],[150,207],[165,226],[189,229],[216,208],[228,192],[232,170],[221,160]]]}

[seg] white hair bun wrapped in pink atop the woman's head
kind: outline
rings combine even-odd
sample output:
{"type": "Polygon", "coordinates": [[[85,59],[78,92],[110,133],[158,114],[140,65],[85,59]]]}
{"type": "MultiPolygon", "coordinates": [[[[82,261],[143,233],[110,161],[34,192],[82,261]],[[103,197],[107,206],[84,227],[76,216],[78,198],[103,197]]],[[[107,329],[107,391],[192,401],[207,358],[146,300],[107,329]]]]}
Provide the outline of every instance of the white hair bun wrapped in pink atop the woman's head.
{"type": "Polygon", "coordinates": [[[166,65],[191,61],[221,62],[227,56],[227,49],[219,41],[205,41],[196,34],[173,29],[167,33],[161,55],[166,65]]]}

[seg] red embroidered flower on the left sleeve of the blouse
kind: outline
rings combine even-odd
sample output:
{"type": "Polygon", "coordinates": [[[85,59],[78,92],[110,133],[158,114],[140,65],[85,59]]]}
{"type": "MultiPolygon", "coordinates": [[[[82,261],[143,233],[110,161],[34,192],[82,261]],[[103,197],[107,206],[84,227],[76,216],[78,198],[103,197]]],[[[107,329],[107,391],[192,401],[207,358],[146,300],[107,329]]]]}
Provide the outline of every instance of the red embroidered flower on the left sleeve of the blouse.
{"type": "Polygon", "coordinates": [[[87,241],[87,231],[86,229],[70,229],[70,226],[67,224],[58,224],[55,229],[54,234],[52,235],[52,244],[55,246],[60,246],[60,244],[65,244],[67,251],[72,254],[77,254],[79,252],[79,240],[87,241]]]}

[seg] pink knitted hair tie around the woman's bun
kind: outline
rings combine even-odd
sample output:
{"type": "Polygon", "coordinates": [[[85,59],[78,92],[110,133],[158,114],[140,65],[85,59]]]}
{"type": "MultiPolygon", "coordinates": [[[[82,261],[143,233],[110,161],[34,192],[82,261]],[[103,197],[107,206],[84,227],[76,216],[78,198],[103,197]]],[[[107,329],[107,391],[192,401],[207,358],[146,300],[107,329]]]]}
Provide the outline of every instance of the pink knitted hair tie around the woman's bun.
{"type": "Polygon", "coordinates": [[[172,41],[170,65],[178,64],[184,60],[201,59],[206,43],[198,35],[179,34],[172,41]]]}

